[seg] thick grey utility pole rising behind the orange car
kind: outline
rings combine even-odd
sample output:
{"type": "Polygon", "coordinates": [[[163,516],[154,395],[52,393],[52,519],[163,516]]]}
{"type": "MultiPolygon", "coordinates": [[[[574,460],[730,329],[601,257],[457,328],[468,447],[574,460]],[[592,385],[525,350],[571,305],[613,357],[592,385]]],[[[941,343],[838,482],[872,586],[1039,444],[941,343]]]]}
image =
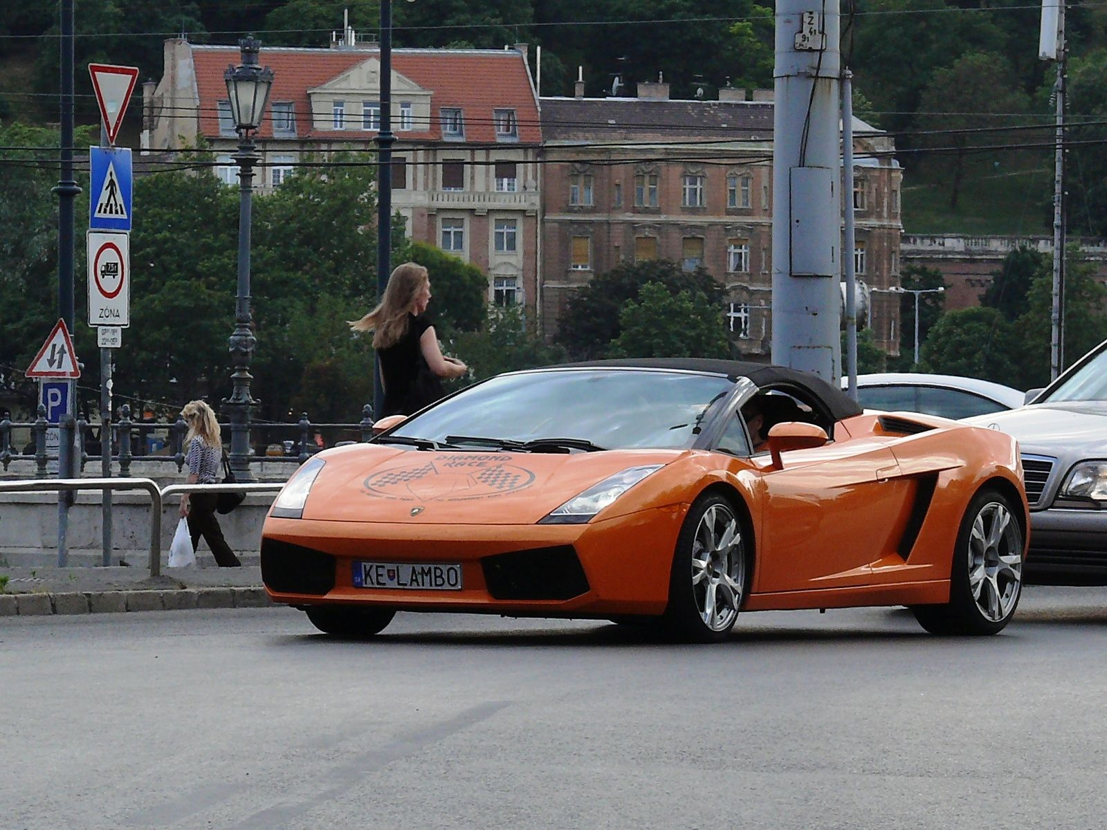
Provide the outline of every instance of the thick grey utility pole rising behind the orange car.
{"type": "MultiPolygon", "coordinates": [[[[773,116],[773,362],[840,374],[838,2],[778,0],[773,116]]],[[[851,253],[851,252],[850,252],[851,253]]]]}

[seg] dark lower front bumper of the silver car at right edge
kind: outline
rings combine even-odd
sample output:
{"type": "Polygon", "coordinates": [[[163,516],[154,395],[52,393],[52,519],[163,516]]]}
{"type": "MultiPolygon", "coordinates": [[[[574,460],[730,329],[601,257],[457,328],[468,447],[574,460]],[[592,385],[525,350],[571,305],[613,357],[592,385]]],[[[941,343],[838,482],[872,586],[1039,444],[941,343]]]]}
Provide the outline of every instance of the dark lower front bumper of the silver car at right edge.
{"type": "Polygon", "coordinates": [[[1107,584],[1107,510],[1032,512],[1025,574],[1038,584],[1107,584]]]}

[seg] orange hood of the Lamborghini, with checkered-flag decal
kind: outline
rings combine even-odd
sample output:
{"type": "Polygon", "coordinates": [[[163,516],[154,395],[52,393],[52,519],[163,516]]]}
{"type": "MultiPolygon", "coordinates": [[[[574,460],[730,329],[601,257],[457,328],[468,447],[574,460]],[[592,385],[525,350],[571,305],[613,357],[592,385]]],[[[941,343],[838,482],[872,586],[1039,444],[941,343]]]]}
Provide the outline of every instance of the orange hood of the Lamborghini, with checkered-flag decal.
{"type": "Polygon", "coordinates": [[[427,452],[372,444],[344,450],[323,454],[327,465],[311,488],[304,519],[532,525],[627,467],[664,465],[687,453],[427,452]]]}

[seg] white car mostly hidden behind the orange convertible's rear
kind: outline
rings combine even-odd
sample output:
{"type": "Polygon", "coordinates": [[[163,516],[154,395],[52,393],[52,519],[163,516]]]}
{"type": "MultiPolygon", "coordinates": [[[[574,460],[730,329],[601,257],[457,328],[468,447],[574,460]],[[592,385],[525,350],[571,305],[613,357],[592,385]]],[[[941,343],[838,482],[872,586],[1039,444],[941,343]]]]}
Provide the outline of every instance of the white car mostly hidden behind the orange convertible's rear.
{"type": "MultiPolygon", "coordinates": [[[[841,378],[841,387],[848,381],[841,378]]],[[[1002,383],[922,372],[881,372],[857,376],[857,402],[866,409],[921,412],[968,418],[1022,406],[1026,394],[1002,383]]]]}

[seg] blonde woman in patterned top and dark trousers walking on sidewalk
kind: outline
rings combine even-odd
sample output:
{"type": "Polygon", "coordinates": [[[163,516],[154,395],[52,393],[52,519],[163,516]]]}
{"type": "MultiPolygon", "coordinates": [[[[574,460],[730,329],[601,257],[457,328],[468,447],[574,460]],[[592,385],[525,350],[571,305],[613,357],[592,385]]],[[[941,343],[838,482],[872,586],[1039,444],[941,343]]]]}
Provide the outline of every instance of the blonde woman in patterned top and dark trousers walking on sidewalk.
{"type": "MultiPolygon", "coordinates": [[[[188,447],[185,456],[188,484],[215,484],[223,460],[223,440],[215,413],[203,401],[189,401],[180,411],[180,417],[188,424],[188,436],[185,439],[188,447]]],[[[214,492],[194,492],[190,497],[186,492],[180,497],[180,517],[188,520],[193,550],[203,536],[220,568],[238,568],[242,563],[223,538],[223,529],[215,517],[215,506],[214,492]]]]}

